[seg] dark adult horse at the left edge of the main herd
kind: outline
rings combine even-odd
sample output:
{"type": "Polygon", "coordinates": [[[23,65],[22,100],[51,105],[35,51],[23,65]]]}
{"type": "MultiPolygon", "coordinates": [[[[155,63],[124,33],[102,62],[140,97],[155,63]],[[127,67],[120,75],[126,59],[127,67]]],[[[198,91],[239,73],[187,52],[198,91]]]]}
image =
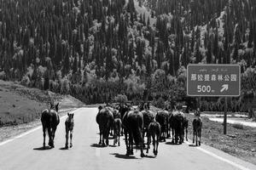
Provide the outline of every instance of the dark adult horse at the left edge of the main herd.
{"type": "Polygon", "coordinates": [[[102,107],[99,106],[99,112],[96,115],[96,122],[99,125],[100,129],[100,142],[99,144],[102,144],[102,146],[108,146],[108,136],[110,127],[113,126],[113,109],[110,107],[102,107]],[[105,144],[106,140],[106,144],[105,144]]]}

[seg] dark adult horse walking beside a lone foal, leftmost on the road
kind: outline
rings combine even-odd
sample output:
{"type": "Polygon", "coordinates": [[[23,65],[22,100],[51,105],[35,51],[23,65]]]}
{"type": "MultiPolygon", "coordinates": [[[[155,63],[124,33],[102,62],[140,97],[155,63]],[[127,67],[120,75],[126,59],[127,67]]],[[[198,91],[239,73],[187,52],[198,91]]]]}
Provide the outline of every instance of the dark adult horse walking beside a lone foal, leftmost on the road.
{"type": "Polygon", "coordinates": [[[55,131],[57,129],[58,124],[60,123],[60,117],[58,115],[59,103],[57,105],[50,104],[50,110],[46,109],[42,112],[41,122],[43,126],[44,133],[44,143],[43,146],[45,148],[45,136],[46,129],[48,130],[49,135],[49,146],[54,148],[54,139],[55,139],[55,131]]]}

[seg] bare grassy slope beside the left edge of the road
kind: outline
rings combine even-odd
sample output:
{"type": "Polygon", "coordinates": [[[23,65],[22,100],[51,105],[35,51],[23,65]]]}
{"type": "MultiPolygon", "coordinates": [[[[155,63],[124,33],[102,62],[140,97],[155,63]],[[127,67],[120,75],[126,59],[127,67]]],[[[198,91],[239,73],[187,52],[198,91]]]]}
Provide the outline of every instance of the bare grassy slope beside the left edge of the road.
{"type": "Polygon", "coordinates": [[[71,96],[0,81],[0,127],[38,120],[50,101],[60,102],[61,111],[84,105],[71,96]]]}

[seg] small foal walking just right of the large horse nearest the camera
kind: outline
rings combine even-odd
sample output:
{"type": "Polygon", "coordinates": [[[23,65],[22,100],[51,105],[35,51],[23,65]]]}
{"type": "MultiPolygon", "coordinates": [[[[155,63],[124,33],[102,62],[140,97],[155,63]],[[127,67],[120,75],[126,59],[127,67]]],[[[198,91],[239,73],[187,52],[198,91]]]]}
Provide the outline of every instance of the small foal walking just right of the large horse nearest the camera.
{"type": "MultiPolygon", "coordinates": [[[[154,156],[157,156],[158,153],[158,144],[160,141],[160,134],[161,134],[161,127],[160,127],[160,123],[159,122],[150,122],[148,125],[148,139],[153,139],[153,146],[154,146],[154,156]]],[[[149,145],[150,145],[150,141],[148,140],[148,148],[147,148],[147,153],[148,153],[148,149],[149,149],[149,145]]]]}

